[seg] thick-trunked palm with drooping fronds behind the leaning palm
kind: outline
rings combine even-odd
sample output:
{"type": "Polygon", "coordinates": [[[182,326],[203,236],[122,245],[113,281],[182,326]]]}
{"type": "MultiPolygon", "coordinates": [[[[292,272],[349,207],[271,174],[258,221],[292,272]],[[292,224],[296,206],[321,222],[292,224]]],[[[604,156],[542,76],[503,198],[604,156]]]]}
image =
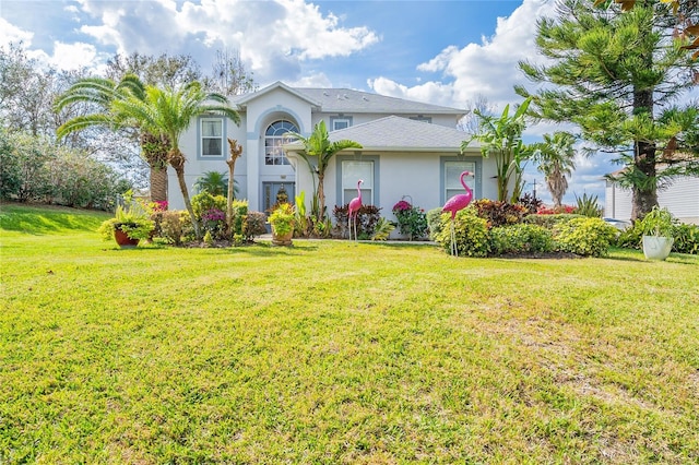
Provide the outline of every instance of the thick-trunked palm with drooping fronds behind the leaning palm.
{"type": "MultiPolygon", "coordinates": [[[[134,74],[125,75],[118,83],[103,78],[85,78],[75,82],[68,91],[59,96],[55,104],[56,111],[60,111],[72,104],[94,104],[97,111],[91,115],[79,116],[66,121],[57,130],[58,139],[62,139],[71,132],[91,127],[130,128],[120,124],[118,118],[111,112],[111,103],[115,99],[145,98],[145,86],[134,74]]],[[[139,131],[139,144],[141,156],[151,169],[151,200],[153,202],[167,200],[167,153],[169,141],[164,134],[153,134],[139,131]]]]}

